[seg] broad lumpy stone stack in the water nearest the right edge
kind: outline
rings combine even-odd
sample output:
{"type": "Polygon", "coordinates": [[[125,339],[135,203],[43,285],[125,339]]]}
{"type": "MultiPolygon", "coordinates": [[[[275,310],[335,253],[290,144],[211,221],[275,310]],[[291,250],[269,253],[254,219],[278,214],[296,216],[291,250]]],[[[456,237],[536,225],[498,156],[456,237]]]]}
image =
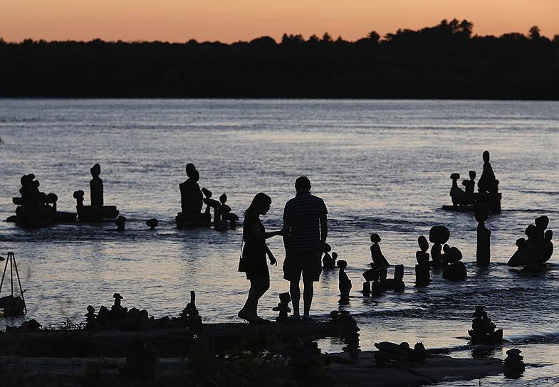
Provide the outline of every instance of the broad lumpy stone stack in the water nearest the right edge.
{"type": "Polygon", "coordinates": [[[518,250],[513,254],[507,265],[524,266],[527,270],[541,267],[553,255],[552,230],[545,230],[549,225],[547,216],[536,218],[535,225],[528,225],[526,238],[516,240],[518,250]]]}

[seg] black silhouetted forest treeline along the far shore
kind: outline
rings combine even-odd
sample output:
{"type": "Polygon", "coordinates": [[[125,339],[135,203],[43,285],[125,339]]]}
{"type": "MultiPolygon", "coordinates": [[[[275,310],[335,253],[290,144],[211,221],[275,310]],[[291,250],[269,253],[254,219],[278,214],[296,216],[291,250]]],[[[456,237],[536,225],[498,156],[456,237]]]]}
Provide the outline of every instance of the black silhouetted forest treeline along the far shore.
{"type": "Polygon", "coordinates": [[[559,99],[559,36],[472,28],[442,21],[355,42],[0,40],[0,96],[559,99]]]}

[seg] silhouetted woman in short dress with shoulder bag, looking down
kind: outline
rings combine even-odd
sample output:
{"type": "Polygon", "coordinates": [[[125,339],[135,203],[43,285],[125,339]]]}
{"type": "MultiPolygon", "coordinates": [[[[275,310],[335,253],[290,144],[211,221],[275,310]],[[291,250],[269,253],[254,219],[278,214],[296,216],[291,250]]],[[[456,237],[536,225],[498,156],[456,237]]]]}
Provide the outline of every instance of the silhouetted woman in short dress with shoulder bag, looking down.
{"type": "Polygon", "coordinates": [[[241,319],[246,319],[251,324],[269,322],[258,317],[256,307],[258,307],[258,299],[270,288],[270,272],[266,264],[266,255],[268,255],[270,265],[278,265],[278,261],[266,245],[266,239],[281,235],[281,231],[266,233],[260,221],[260,216],[266,215],[270,210],[271,203],[270,196],[259,192],[254,196],[251,205],[244,213],[243,240],[245,245],[239,271],[246,272],[246,279],[251,281],[251,289],[249,290],[249,297],[246,298],[244,307],[239,311],[238,316],[241,319]]]}

